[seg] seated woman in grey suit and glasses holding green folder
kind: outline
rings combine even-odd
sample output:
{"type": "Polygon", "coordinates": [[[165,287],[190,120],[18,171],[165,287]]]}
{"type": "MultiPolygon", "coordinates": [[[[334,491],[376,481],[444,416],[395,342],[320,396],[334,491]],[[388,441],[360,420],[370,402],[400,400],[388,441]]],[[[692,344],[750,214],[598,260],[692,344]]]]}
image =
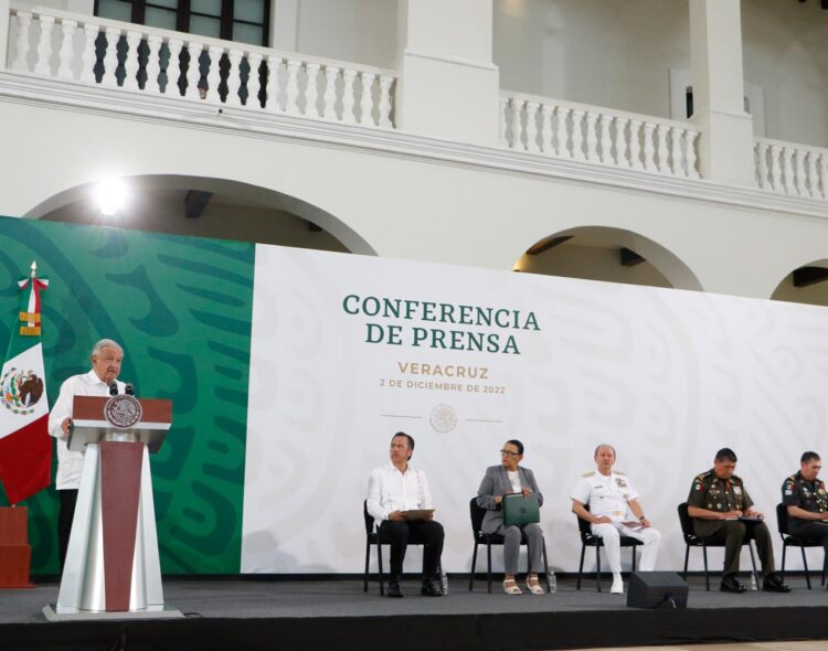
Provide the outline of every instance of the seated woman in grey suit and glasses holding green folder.
{"type": "Polygon", "coordinates": [[[518,573],[518,555],[520,554],[521,530],[526,534],[529,546],[529,574],[527,589],[533,595],[542,595],[543,588],[538,581],[538,573],[543,572],[541,553],[543,549],[543,532],[539,524],[523,526],[506,526],[501,502],[507,493],[538,494],[538,502],[543,504],[543,495],[538,490],[534,474],[528,468],[520,466],[523,459],[523,444],[519,440],[508,440],[500,450],[500,466],[486,469],[486,477],[477,491],[477,504],[486,509],[481,531],[497,533],[503,536],[503,591],[507,595],[520,595],[521,589],[514,580],[518,573]]]}

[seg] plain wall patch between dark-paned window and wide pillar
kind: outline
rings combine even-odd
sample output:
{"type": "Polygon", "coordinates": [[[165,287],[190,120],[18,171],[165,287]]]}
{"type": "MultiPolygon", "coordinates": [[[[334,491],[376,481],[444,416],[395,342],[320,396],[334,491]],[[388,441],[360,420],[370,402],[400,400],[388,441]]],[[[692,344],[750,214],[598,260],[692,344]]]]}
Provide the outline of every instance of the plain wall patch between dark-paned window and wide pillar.
{"type": "Polygon", "coordinates": [[[393,67],[396,11],[396,0],[299,0],[296,49],[302,54],[393,67]]]}

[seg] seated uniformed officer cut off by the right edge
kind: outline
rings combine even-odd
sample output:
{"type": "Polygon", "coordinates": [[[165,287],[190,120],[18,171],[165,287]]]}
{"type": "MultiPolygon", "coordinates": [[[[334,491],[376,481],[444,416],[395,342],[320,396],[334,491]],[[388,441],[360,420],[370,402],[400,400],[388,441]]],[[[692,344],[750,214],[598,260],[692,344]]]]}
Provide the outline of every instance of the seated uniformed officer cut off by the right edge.
{"type": "Polygon", "coordinates": [[[788,533],[798,538],[821,543],[828,554],[828,491],[817,479],[822,460],[816,452],[805,452],[799,472],[782,484],[782,503],[788,510],[788,533]]]}

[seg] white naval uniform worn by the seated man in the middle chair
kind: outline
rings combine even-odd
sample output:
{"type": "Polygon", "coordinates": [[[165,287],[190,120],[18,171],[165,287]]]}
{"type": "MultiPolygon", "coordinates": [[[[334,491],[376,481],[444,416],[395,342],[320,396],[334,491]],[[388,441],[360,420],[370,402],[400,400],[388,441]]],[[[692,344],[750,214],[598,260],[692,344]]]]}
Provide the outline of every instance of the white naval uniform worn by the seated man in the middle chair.
{"type": "Polygon", "coordinates": [[[607,562],[613,574],[620,573],[622,535],[644,543],[639,569],[643,572],[655,569],[661,534],[651,526],[630,529],[624,524],[637,520],[629,512],[629,501],[638,499],[638,493],[626,474],[611,472],[609,477],[605,477],[597,471],[587,472],[578,480],[570,497],[588,505],[590,513],[593,515],[607,515],[612,519],[611,524],[592,524],[592,533],[603,538],[607,562]]]}

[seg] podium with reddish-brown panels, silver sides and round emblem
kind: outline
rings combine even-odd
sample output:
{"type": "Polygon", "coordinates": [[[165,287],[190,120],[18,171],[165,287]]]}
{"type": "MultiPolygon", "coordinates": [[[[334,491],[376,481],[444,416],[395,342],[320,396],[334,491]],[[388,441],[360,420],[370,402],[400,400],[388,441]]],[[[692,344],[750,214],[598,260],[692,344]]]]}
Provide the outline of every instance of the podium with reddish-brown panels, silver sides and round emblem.
{"type": "Polygon", "coordinates": [[[84,451],[53,621],[182,617],[164,606],[149,452],[172,423],[170,401],[76,396],[68,449],[84,451]]]}

